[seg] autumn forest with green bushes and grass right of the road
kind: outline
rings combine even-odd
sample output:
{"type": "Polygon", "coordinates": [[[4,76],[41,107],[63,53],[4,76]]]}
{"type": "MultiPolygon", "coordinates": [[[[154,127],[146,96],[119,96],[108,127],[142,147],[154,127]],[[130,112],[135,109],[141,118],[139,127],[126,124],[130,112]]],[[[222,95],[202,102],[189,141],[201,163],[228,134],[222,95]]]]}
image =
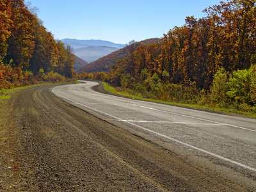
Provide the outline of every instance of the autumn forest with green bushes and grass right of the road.
{"type": "Polygon", "coordinates": [[[207,17],[186,17],[157,43],[135,42],[110,72],[79,77],[145,98],[256,113],[255,3],[221,1],[204,10],[207,17]]]}

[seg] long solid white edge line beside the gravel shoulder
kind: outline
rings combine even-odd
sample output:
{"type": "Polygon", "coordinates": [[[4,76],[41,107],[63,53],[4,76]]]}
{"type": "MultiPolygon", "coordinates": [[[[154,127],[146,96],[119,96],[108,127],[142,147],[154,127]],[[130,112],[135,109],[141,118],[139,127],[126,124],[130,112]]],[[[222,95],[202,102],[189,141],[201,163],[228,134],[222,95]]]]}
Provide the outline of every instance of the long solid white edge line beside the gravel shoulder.
{"type": "MultiPolygon", "coordinates": [[[[56,88],[56,87],[55,87],[55,88],[56,88]]],[[[64,97],[64,96],[62,96],[62,95],[59,95],[58,93],[54,92],[54,88],[52,88],[52,92],[53,92],[54,94],[58,95],[59,97],[62,97],[62,98],[67,99],[67,100],[70,100],[71,102],[74,102],[75,104],[78,104],[78,105],[80,105],[80,106],[83,106],[84,108],[88,108],[88,109],[91,109],[91,110],[93,110],[93,111],[97,111],[98,113],[102,113],[102,114],[104,114],[104,115],[110,116],[111,118],[114,118],[114,119],[116,119],[116,120],[122,120],[122,119],[120,119],[120,118],[118,118],[118,117],[116,117],[116,116],[110,115],[110,114],[105,113],[105,112],[103,112],[103,111],[99,111],[99,110],[97,110],[97,109],[90,108],[89,106],[85,106],[84,104],[80,104],[79,102],[76,102],[76,101],[74,101],[74,100],[68,99],[67,97],[64,97]]],[[[184,116],[186,116],[186,115],[184,115],[184,116]]],[[[207,120],[207,121],[208,121],[208,120],[207,120]]],[[[212,121],[209,121],[209,122],[212,122],[212,121]]],[[[204,149],[202,149],[202,148],[198,148],[198,147],[195,147],[195,146],[190,145],[190,144],[188,144],[188,143],[184,143],[183,141],[176,140],[175,138],[171,138],[170,136],[166,136],[166,135],[161,134],[161,133],[159,133],[159,132],[152,131],[152,130],[147,129],[147,128],[145,128],[145,127],[142,127],[142,126],[140,126],[140,125],[132,124],[132,122],[127,122],[127,124],[133,125],[133,126],[135,126],[135,127],[138,127],[138,128],[140,128],[140,129],[143,129],[144,131],[147,131],[147,132],[151,132],[151,133],[153,133],[153,134],[156,134],[157,136],[161,136],[161,137],[166,138],[166,139],[168,139],[168,140],[175,141],[176,143],[180,143],[180,144],[182,144],[182,145],[185,145],[185,146],[187,146],[187,147],[193,148],[193,149],[198,150],[198,151],[200,151],[200,152],[204,152],[205,154],[209,154],[209,155],[211,155],[211,156],[217,157],[217,158],[222,159],[222,160],[224,160],[224,161],[227,161],[227,162],[229,162],[229,163],[233,163],[233,164],[236,164],[236,165],[241,166],[241,167],[243,167],[243,168],[246,168],[246,169],[248,169],[248,170],[252,170],[253,172],[256,172],[256,168],[252,168],[252,167],[247,166],[247,165],[245,165],[245,164],[241,164],[241,163],[239,163],[239,162],[237,162],[237,161],[233,161],[232,159],[228,159],[228,158],[226,158],[226,157],[219,156],[219,155],[217,155],[217,154],[214,154],[214,153],[209,152],[209,151],[207,151],[207,150],[204,150],[204,149]]],[[[220,123],[218,123],[218,124],[220,124],[220,123]]],[[[249,130],[250,130],[250,129],[249,129],[249,130]]]]}

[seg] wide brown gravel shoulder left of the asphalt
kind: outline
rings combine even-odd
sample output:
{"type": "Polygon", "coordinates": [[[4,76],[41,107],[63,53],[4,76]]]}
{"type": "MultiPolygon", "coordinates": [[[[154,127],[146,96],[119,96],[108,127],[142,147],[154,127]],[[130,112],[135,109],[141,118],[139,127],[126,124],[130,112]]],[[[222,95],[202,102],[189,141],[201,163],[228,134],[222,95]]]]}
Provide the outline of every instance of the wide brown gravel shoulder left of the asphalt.
{"type": "Polygon", "coordinates": [[[70,106],[51,87],[3,105],[0,191],[248,190],[70,106]]]}

